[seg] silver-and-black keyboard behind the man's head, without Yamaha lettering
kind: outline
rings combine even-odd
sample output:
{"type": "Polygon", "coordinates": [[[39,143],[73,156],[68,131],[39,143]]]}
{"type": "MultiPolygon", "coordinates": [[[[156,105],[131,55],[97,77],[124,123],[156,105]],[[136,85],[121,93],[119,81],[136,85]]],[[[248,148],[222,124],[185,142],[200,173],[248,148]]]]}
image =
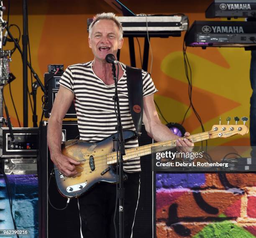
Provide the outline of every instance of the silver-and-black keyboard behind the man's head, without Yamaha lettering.
{"type": "MultiPolygon", "coordinates": [[[[188,23],[185,15],[136,15],[117,18],[122,23],[124,37],[144,37],[147,31],[149,36],[154,37],[180,36],[181,31],[187,30],[188,23]]],[[[87,31],[92,20],[92,18],[87,19],[87,31]]]]}

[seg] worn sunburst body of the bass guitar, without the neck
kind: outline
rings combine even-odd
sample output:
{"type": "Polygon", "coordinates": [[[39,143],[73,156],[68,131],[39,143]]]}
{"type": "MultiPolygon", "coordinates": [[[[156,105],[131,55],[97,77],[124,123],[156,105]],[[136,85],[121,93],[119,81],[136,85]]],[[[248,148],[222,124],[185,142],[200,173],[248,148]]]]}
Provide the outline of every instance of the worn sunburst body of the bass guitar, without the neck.
{"type": "MultiPolygon", "coordinates": [[[[133,131],[124,131],[125,142],[136,138],[133,131]]],[[[65,177],[54,165],[54,174],[59,192],[65,197],[78,197],[87,192],[97,182],[117,182],[116,161],[117,134],[113,134],[97,143],[87,143],[73,139],[61,144],[61,152],[67,157],[81,162],[78,167],[80,175],[77,177],[65,177]],[[108,156],[111,154],[111,157],[108,156]],[[109,158],[109,159],[108,159],[109,158]]]]}

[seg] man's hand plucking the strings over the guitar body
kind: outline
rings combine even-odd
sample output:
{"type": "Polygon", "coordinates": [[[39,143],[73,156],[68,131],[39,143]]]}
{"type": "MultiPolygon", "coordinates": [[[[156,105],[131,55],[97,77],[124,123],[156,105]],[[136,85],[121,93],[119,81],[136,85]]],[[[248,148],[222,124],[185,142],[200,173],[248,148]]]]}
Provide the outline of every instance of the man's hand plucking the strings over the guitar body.
{"type": "Polygon", "coordinates": [[[53,154],[51,160],[65,177],[76,177],[80,173],[77,166],[81,163],[72,158],[63,154],[53,154]]]}

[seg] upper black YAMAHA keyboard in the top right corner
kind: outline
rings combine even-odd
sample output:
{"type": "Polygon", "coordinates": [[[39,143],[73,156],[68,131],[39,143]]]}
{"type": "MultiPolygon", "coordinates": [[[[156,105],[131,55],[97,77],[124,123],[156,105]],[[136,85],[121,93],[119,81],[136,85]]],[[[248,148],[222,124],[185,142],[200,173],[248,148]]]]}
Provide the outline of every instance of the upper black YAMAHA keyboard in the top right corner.
{"type": "Polygon", "coordinates": [[[215,0],[205,11],[206,18],[256,18],[256,0],[215,0]]]}

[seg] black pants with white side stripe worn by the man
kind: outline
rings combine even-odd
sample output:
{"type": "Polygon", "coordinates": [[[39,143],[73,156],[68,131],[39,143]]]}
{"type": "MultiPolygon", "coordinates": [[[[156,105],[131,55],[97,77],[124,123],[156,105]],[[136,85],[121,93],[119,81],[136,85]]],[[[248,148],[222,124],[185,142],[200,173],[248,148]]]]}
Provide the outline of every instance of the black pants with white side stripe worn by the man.
{"type": "MultiPolygon", "coordinates": [[[[140,173],[127,175],[128,180],[124,182],[124,237],[130,238],[138,202],[140,173]]],[[[83,238],[115,238],[115,197],[116,185],[102,182],[78,198],[83,238]]],[[[118,232],[118,209],[116,227],[118,232]]]]}

